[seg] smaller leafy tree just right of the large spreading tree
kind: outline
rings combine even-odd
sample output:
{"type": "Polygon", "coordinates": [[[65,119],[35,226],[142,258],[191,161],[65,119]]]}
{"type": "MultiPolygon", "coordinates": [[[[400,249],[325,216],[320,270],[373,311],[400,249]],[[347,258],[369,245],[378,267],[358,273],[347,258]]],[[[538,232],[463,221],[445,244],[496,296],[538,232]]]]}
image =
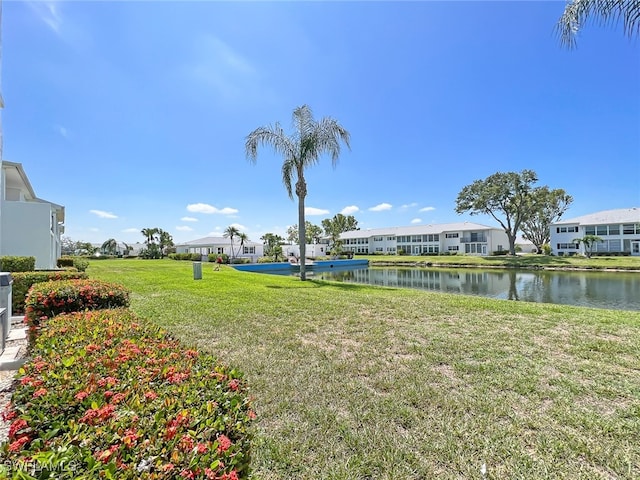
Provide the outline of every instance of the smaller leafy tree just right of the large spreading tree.
{"type": "Polygon", "coordinates": [[[532,215],[522,222],[522,236],[536,246],[538,253],[542,253],[542,246],[551,241],[551,224],[567,211],[573,197],[562,189],[539,187],[532,192],[531,201],[532,215]]]}

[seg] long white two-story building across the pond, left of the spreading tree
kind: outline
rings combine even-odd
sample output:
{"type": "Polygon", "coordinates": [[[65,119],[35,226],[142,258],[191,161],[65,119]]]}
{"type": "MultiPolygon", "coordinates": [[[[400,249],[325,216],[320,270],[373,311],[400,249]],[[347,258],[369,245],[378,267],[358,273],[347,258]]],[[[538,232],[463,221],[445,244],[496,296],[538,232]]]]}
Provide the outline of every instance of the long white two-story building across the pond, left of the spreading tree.
{"type": "Polygon", "coordinates": [[[509,249],[509,239],[503,229],[470,222],[353,230],[340,238],[343,250],[356,254],[490,255],[509,249]]]}

